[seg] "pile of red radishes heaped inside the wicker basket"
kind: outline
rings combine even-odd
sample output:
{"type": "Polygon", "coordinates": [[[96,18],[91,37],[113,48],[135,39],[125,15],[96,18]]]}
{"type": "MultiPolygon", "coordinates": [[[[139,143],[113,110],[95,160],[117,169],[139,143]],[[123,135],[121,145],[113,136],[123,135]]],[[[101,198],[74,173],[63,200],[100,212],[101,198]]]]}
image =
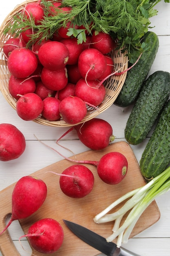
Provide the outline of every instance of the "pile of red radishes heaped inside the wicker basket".
{"type": "MultiPolygon", "coordinates": [[[[60,4],[53,3],[49,15],[55,15],[55,8],[63,12],[71,9],[60,4]]],[[[22,12],[40,24],[43,11],[38,1],[27,3],[22,12]]],[[[23,30],[20,38],[10,38],[4,43],[11,74],[9,92],[17,101],[16,111],[22,119],[63,119],[74,125],[86,117],[89,106],[97,109],[104,101],[104,81],[114,70],[109,53],[114,50],[115,41],[109,34],[93,31],[93,34],[87,32],[86,43],[78,44],[77,38],[68,36],[71,26],[68,21],[53,37],[40,38],[30,49],[26,44],[30,35],[36,33],[31,29],[23,30]]]]}

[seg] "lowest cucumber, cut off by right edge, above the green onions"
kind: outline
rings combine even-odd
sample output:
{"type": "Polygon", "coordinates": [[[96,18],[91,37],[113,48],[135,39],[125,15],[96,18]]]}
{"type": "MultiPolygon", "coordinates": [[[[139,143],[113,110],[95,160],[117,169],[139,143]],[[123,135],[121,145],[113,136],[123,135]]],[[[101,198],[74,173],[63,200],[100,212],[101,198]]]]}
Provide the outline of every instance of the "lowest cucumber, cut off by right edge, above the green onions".
{"type": "Polygon", "coordinates": [[[170,100],[161,112],[155,127],[140,159],[141,174],[146,180],[162,173],[170,163],[170,100]]]}

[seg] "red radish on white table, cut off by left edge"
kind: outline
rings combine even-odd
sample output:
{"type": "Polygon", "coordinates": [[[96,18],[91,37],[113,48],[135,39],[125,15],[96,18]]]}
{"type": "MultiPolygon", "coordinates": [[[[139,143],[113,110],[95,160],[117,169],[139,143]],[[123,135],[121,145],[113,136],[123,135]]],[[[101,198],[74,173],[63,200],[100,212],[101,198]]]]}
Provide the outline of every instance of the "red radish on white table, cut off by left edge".
{"type": "Polygon", "coordinates": [[[16,159],[24,153],[25,137],[12,124],[0,124],[0,161],[16,159]]]}

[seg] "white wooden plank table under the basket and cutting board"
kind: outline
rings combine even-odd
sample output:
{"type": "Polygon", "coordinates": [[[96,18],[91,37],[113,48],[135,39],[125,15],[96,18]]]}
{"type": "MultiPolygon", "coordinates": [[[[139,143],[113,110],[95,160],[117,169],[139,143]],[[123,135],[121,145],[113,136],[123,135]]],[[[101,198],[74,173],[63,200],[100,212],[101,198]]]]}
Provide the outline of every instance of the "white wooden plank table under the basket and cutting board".
{"type": "MultiPolygon", "coordinates": [[[[1,2],[0,23],[3,22],[4,18],[17,4],[22,2],[21,0],[1,2]]],[[[155,26],[151,30],[159,36],[159,50],[149,74],[157,70],[170,72],[170,4],[164,3],[162,0],[157,4],[156,9],[159,12],[157,16],[151,19],[151,25],[153,27],[155,26]]],[[[108,121],[113,127],[116,137],[115,141],[125,140],[124,128],[131,108],[132,107],[123,109],[113,105],[99,115],[100,118],[108,121]]],[[[53,150],[42,146],[40,142],[36,141],[34,134],[37,135],[39,139],[44,140],[48,145],[56,147],[55,140],[59,138],[67,128],[54,128],[36,124],[33,121],[23,121],[18,117],[15,110],[11,108],[1,93],[0,123],[11,123],[15,125],[26,138],[26,150],[21,157],[9,162],[0,162],[0,190],[18,181],[24,175],[29,175],[49,164],[62,160],[60,155],[57,155],[53,150]]],[[[148,138],[138,146],[132,146],[138,162],[147,141],[148,138]]],[[[75,154],[88,150],[88,148],[83,146],[77,139],[75,132],[71,132],[67,135],[62,141],[62,145],[70,149],[72,148],[75,154]]],[[[60,148],[60,152],[66,156],[71,155],[69,151],[62,150],[62,148],[60,148]]],[[[159,196],[156,202],[161,212],[160,220],[134,238],[131,238],[128,244],[124,245],[126,249],[132,250],[141,256],[170,256],[170,191],[159,196]]],[[[20,247],[17,241],[18,235],[20,234],[17,224],[13,222],[10,230],[15,245],[20,247]]],[[[22,249],[20,253],[22,256],[30,255],[22,249]]]]}

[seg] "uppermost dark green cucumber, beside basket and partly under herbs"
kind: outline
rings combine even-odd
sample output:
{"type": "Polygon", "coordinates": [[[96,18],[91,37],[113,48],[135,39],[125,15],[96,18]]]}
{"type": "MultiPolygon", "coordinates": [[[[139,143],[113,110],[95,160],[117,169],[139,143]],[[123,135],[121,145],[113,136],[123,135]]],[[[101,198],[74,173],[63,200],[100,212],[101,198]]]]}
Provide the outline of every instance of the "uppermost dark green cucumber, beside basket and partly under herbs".
{"type": "Polygon", "coordinates": [[[137,64],[127,72],[124,85],[114,102],[119,107],[127,107],[135,101],[155,60],[159,48],[158,36],[154,32],[148,31],[142,42],[147,43],[150,47],[143,53],[137,64]]]}

